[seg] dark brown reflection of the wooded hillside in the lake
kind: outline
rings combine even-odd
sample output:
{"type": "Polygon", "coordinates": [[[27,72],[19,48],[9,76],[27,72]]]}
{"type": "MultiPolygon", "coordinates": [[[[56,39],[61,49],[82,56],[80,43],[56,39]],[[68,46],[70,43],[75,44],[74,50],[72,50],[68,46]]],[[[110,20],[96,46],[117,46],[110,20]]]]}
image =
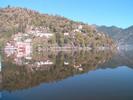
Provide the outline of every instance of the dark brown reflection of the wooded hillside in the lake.
{"type": "Polygon", "coordinates": [[[112,52],[58,52],[57,54],[46,53],[41,55],[33,57],[33,60],[23,66],[11,63],[11,59],[9,61],[6,60],[2,70],[3,89],[17,90],[29,88],[44,82],[55,82],[76,74],[95,70],[111,58],[112,52]],[[53,64],[41,65],[39,67],[36,65],[36,62],[47,59],[53,62],[53,64]],[[79,65],[80,67],[78,67],[79,65]],[[80,70],[81,68],[82,70],[80,70]]]}

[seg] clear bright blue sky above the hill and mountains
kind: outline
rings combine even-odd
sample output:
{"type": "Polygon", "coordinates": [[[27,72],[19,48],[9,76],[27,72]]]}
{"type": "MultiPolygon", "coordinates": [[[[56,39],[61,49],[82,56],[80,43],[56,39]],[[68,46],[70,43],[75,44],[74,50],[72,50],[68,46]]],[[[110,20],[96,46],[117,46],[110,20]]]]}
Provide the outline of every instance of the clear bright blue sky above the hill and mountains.
{"type": "Polygon", "coordinates": [[[0,0],[0,7],[26,7],[88,24],[133,25],[133,0],[0,0]]]}

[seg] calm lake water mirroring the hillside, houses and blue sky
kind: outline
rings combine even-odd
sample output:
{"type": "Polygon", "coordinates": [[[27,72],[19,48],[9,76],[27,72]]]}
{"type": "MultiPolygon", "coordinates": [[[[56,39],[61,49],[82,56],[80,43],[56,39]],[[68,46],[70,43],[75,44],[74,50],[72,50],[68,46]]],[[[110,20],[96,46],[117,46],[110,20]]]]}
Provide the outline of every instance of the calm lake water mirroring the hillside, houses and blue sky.
{"type": "Polygon", "coordinates": [[[0,100],[133,100],[131,51],[10,53],[0,60],[0,100]]]}

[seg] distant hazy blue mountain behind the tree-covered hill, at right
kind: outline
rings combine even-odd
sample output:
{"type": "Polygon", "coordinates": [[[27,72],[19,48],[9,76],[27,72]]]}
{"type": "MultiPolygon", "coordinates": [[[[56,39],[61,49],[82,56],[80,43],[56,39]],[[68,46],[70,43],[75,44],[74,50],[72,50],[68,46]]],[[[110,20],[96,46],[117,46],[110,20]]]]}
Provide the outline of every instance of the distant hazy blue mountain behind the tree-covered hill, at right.
{"type": "Polygon", "coordinates": [[[120,45],[133,44],[133,26],[126,29],[118,28],[116,26],[96,26],[97,30],[107,33],[120,45]]]}

